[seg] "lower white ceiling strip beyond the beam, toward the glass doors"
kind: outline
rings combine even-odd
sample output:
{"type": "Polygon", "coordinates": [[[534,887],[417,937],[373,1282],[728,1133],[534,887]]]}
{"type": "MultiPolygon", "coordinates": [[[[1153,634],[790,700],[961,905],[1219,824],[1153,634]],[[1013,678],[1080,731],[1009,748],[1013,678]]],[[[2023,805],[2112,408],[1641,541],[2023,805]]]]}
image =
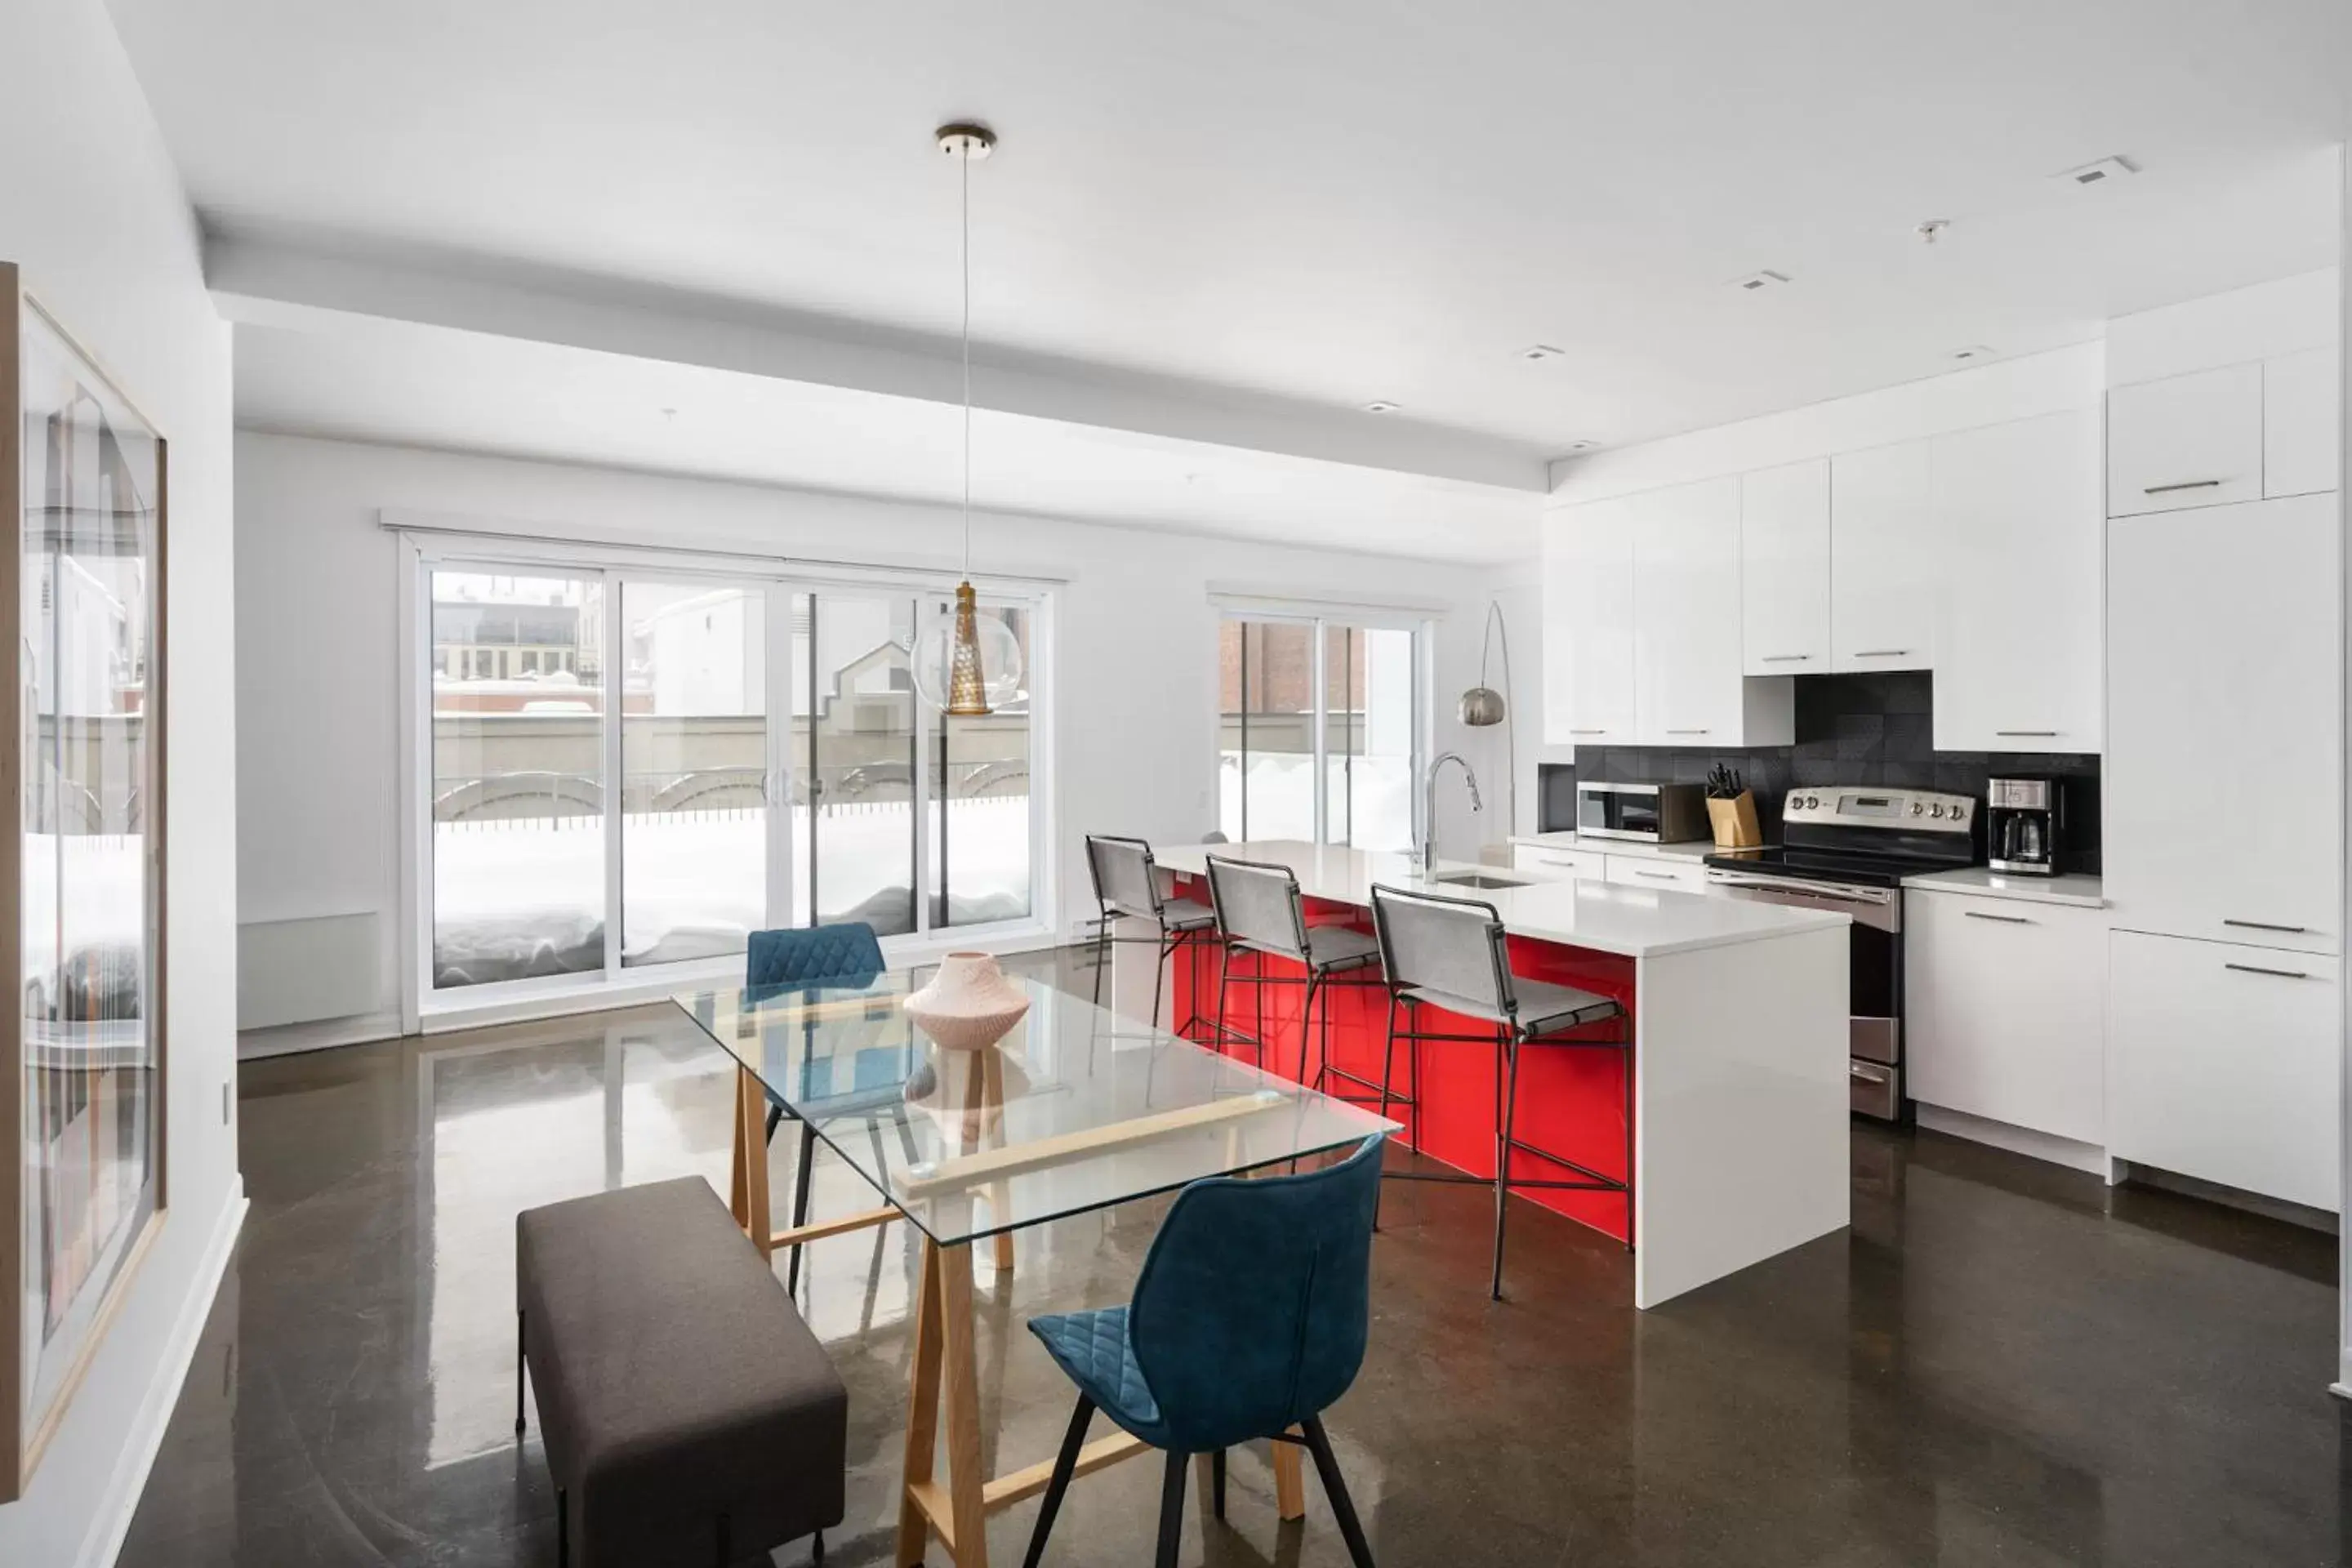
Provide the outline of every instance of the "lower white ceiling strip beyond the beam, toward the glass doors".
{"type": "MultiPolygon", "coordinates": [[[[238,327],[238,423],[793,484],[962,498],[950,404],[442,327],[238,327]],[[668,409],[675,409],[670,414],[668,409]]],[[[974,414],[971,487],[1002,512],[1385,555],[1508,562],[1541,496],[1348,463],[974,414]]]]}

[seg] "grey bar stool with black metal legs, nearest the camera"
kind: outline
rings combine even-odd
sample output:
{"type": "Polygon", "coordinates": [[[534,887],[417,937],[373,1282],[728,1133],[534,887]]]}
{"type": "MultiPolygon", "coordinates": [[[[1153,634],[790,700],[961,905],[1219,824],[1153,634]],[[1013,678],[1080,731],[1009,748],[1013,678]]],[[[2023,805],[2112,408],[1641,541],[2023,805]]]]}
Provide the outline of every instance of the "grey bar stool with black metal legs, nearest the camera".
{"type": "MultiPolygon", "coordinates": [[[[1494,1046],[1494,1279],[1491,1295],[1503,1300],[1503,1218],[1512,1187],[1552,1187],[1566,1192],[1625,1194],[1625,1251],[1632,1251],[1632,1030],[1625,1006],[1613,997],[1524,980],[1510,973],[1510,945],[1503,917],[1477,898],[1446,898],[1406,889],[1371,889],[1371,924],[1381,938],[1381,966],[1388,971],[1388,1056],[1381,1063],[1381,1114],[1390,1103],[1411,1107],[1409,1145],[1421,1152],[1421,1044],[1430,1039],[1482,1041],[1494,1046]],[[1446,1034],[1421,1027],[1421,1009],[1435,1006],[1456,1018],[1479,1018],[1494,1034],[1446,1034]],[[1397,1027],[1397,1011],[1404,1027],[1397,1027]],[[1566,1030],[1604,1020],[1623,1020],[1616,1039],[1564,1039],[1566,1030]],[[1397,1060],[1397,1037],[1411,1041],[1414,1095],[1392,1095],[1390,1074],[1397,1060]],[[1512,1135],[1519,1105],[1519,1048],[1559,1046],[1625,1053],[1625,1180],[1611,1180],[1592,1166],[1552,1150],[1541,1150],[1512,1135]],[[1510,1152],[1522,1150],[1555,1166],[1576,1171],[1578,1180],[1512,1180],[1510,1152]]],[[[1475,1175],[1435,1171],[1390,1171],[1399,1180],[1477,1182],[1475,1175]]],[[[1482,1182],[1484,1185],[1484,1182],[1482,1182]]]]}

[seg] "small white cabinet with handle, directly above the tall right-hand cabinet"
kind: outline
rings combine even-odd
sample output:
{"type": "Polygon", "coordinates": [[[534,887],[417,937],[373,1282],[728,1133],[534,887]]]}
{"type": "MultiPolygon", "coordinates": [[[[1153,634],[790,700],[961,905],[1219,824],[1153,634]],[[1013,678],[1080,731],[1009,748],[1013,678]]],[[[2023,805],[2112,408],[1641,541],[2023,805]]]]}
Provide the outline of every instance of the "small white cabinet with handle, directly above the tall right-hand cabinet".
{"type": "Polygon", "coordinates": [[[2107,515],[2263,498],[2263,364],[2107,393],[2107,515]]]}

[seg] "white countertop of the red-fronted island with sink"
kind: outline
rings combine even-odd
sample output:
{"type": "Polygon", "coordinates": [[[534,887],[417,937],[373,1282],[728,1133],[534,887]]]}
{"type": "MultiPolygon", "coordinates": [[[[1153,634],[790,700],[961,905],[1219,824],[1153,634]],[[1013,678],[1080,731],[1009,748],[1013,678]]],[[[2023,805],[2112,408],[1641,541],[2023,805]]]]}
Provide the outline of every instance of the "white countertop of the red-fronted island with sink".
{"type": "MultiPolygon", "coordinates": [[[[1371,853],[1343,844],[1305,844],[1301,839],[1261,839],[1251,844],[1181,844],[1152,846],[1164,870],[1200,877],[1209,856],[1287,865],[1308,898],[1371,907],[1371,884],[1479,898],[1503,917],[1503,929],[1538,943],[1613,952],[1628,959],[1762,943],[1797,931],[1849,924],[1828,910],[1792,910],[1769,903],[1708,898],[1668,889],[1630,889],[1604,882],[1529,882],[1510,889],[1472,889],[1449,882],[1423,882],[1411,856],[1371,853]]],[[[1484,872],[1501,867],[1439,860],[1437,875],[1484,872]]]]}

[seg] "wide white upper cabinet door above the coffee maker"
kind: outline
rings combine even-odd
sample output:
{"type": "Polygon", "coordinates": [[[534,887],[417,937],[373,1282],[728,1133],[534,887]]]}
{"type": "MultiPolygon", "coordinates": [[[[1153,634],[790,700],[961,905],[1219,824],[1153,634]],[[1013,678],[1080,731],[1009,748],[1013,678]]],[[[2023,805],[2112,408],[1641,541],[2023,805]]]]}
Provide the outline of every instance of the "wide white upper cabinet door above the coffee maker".
{"type": "Polygon", "coordinates": [[[1936,750],[2100,750],[2098,456],[2096,409],[1931,442],[1936,750]]]}

